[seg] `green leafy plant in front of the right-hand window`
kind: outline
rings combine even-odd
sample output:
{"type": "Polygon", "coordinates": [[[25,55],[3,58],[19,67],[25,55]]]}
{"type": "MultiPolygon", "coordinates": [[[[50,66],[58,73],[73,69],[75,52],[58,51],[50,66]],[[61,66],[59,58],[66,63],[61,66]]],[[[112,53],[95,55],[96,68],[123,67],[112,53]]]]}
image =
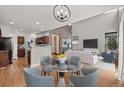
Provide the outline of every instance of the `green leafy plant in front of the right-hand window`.
{"type": "Polygon", "coordinates": [[[118,48],[117,40],[114,37],[108,39],[107,48],[110,51],[115,51],[118,48]]]}

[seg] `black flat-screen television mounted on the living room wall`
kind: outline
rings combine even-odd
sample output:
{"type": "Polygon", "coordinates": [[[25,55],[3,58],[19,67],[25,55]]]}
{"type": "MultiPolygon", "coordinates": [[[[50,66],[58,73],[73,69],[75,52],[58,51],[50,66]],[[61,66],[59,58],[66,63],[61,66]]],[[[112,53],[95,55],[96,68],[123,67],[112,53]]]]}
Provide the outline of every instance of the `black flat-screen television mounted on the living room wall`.
{"type": "Polygon", "coordinates": [[[83,40],[83,48],[98,48],[98,40],[97,39],[83,40]]]}

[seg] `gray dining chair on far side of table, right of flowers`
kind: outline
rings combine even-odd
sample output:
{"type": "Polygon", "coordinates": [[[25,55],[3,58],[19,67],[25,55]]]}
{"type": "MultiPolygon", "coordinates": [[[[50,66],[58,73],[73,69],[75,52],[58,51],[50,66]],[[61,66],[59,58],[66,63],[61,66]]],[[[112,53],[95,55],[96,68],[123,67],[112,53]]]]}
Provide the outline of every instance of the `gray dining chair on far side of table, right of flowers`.
{"type": "Polygon", "coordinates": [[[77,72],[77,74],[80,74],[80,58],[77,56],[71,56],[67,60],[68,70],[72,70],[73,72],[77,72]]]}

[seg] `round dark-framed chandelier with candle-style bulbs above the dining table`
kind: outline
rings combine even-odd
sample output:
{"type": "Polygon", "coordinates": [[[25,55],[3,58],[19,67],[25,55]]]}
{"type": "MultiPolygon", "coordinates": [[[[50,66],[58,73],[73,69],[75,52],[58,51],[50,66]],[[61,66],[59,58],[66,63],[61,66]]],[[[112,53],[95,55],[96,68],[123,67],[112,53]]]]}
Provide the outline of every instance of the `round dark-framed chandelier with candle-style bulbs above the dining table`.
{"type": "Polygon", "coordinates": [[[53,9],[53,16],[56,20],[65,22],[70,18],[71,12],[67,5],[56,5],[53,9]]]}

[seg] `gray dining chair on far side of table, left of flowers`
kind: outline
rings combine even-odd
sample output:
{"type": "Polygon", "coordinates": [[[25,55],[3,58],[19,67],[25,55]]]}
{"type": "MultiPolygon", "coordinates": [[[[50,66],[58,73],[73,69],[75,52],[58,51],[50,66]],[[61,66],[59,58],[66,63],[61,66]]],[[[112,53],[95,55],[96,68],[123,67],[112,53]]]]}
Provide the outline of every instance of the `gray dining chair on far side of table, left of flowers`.
{"type": "Polygon", "coordinates": [[[46,73],[49,75],[50,72],[57,69],[57,65],[53,65],[52,61],[50,56],[41,57],[40,64],[42,65],[42,75],[45,75],[46,73]]]}

